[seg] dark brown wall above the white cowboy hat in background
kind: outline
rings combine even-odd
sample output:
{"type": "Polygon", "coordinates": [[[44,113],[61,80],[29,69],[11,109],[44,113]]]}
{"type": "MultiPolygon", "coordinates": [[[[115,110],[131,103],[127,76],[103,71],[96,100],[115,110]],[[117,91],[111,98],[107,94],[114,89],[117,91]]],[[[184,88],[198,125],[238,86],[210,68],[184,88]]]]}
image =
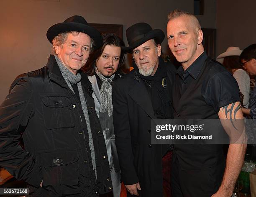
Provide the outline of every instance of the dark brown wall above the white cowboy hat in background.
{"type": "Polygon", "coordinates": [[[217,0],[216,54],[229,46],[241,50],[256,43],[256,0],[217,0]]]}

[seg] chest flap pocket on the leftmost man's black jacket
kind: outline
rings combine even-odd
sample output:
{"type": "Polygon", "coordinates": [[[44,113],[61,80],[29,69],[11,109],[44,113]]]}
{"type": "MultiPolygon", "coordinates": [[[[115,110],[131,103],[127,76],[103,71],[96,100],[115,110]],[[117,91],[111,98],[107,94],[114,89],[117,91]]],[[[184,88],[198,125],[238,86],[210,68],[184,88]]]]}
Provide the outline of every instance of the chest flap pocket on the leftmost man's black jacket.
{"type": "Polygon", "coordinates": [[[67,95],[41,96],[41,101],[47,129],[74,127],[71,100],[67,95]]]}

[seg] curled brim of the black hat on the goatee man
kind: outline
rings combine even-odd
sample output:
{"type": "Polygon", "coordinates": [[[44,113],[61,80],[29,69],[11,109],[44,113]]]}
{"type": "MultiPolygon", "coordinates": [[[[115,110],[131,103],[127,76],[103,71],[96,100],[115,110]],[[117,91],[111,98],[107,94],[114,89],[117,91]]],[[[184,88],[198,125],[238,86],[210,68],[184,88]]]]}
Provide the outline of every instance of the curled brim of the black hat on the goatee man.
{"type": "Polygon", "coordinates": [[[148,33],[146,33],[143,38],[135,41],[132,46],[122,47],[122,49],[123,49],[123,51],[131,54],[133,49],[135,49],[136,47],[140,46],[141,44],[143,44],[144,42],[146,42],[152,38],[156,38],[158,40],[158,43],[160,44],[164,40],[164,32],[161,29],[153,29],[153,30],[149,31],[148,33]]]}

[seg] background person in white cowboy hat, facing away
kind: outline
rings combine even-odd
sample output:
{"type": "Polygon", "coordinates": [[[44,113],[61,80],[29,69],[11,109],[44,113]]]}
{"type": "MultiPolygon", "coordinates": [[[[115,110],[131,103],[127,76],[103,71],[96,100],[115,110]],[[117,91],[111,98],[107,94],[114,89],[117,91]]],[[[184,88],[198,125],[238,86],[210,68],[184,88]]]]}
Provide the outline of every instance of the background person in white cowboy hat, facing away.
{"type": "Polygon", "coordinates": [[[250,98],[250,77],[244,70],[240,62],[241,50],[239,47],[230,46],[228,49],[217,57],[217,61],[228,69],[235,77],[239,91],[243,94],[243,107],[248,108],[250,98]]]}

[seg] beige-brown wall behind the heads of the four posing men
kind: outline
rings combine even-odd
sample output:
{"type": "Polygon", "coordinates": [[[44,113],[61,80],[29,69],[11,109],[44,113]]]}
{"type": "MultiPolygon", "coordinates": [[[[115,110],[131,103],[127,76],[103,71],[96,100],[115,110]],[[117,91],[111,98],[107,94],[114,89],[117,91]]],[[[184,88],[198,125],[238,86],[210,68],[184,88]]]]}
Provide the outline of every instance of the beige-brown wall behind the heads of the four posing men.
{"type": "MultiPolygon", "coordinates": [[[[215,0],[205,0],[204,28],[215,28],[215,0]]],[[[167,14],[176,9],[193,13],[193,0],[0,0],[0,103],[18,74],[45,66],[51,43],[48,28],[72,15],[89,23],[122,24],[125,31],[138,22],[166,33],[167,14]]],[[[162,43],[168,51],[167,39],[162,43]]]]}

